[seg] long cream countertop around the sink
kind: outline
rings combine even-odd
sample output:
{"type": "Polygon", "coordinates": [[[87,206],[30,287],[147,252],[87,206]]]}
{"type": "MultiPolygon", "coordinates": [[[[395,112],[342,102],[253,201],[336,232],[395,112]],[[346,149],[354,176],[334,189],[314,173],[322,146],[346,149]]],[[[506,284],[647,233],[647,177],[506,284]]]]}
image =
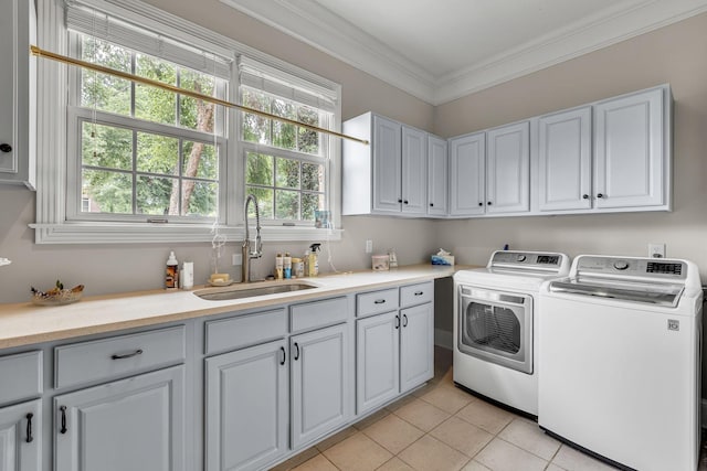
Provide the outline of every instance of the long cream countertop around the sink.
{"type": "MultiPolygon", "coordinates": [[[[390,271],[367,270],[302,278],[318,287],[225,301],[203,300],[192,291],[205,287],[194,287],[188,291],[151,290],[95,296],[55,307],[34,306],[29,301],[0,304],[0,349],[428,281],[452,276],[464,268],[469,267],[414,265],[390,271]]],[[[253,282],[250,286],[263,285],[253,282]]]]}

